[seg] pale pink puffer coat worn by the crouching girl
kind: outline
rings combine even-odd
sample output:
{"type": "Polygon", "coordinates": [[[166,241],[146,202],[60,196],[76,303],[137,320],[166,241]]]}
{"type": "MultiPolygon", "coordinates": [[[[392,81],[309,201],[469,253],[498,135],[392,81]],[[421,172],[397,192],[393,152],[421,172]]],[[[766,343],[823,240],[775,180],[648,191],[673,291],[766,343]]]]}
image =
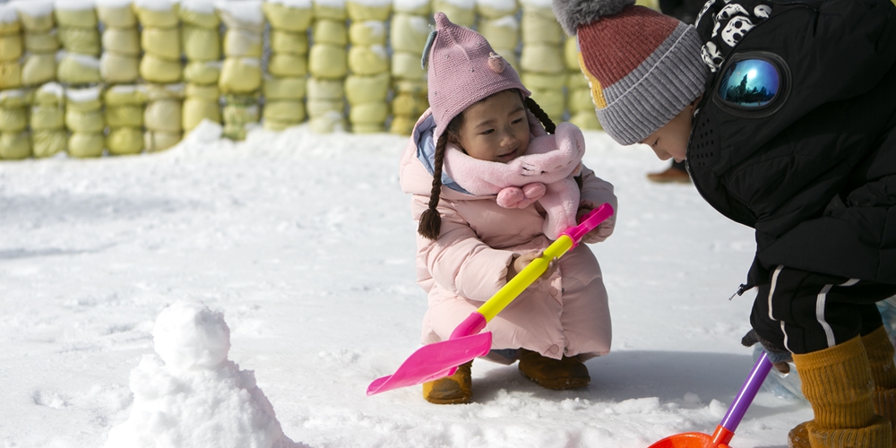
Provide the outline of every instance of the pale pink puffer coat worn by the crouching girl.
{"type": "MultiPolygon", "coordinates": [[[[426,133],[429,113],[420,117],[401,156],[401,189],[412,194],[414,220],[426,211],[433,176],[418,159],[418,144],[432,148],[426,133]]],[[[582,170],[580,203],[616,209],[613,185],[582,170]]],[[[551,241],[542,233],[545,211],[538,203],[504,209],[495,196],[473,196],[442,187],[438,210],[442,233],[437,241],[417,236],[417,279],[429,298],[423,319],[423,343],[446,340],[454,328],[506,283],[513,254],[544,249],[551,241]]],[[[615,216],[614,216],[615,219],[615,216]]],[[[607,354],[611,327],[600,266],[586,245],[559,260],[554,275],[523,291],[488,323],[492,349],[525,348],[549,358],[563,355],[587,359],[607,354]]]]}

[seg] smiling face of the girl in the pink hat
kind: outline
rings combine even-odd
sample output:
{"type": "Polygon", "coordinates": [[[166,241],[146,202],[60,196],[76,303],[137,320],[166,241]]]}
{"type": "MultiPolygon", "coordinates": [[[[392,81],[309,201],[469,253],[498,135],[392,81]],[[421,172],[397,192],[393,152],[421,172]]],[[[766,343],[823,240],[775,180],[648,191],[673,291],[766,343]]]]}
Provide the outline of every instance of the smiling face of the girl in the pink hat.
{"type": "Polygon", "coordinates": [[[529,148],[529,120],[516,90],[503,90],[463,111],[457,144],[473,159],[507,163],[529,148]]]}

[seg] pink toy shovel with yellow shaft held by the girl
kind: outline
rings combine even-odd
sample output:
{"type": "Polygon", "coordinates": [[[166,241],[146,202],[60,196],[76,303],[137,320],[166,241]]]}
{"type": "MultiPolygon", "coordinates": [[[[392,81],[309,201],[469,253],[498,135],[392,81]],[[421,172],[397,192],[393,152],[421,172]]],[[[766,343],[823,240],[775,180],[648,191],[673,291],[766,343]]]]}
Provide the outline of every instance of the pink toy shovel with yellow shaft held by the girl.
{"type": "Polygon", "coordinates": [[[486,323],[547,271],[547,265],[552,259],[559,258],[578,245],[586,233],[597,228],[612,214],[613,207],[605,203],[583,216],[582,223],[578,226],[564,230],[551,246],[547,246],[540,258],[532,260],[525,269],[508,281],[504,288],[499,289],[494,296],[454,328],[448,340],[423,346],[412,353],[394,374],[377,378],[370,383],[367,386],[367,395],[451,376],[454,375],[457,366],[473,358],[487,355],[492,347],[492,333],[480,333],[486,327],[486,323]]]}

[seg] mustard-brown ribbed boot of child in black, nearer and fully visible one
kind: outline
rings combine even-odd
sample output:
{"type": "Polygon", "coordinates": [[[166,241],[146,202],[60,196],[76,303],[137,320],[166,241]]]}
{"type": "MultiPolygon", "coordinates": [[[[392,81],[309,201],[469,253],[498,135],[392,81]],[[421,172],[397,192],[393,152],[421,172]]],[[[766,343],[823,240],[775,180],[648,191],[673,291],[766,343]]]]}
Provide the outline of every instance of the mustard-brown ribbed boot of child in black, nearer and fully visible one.
{"type": "Polygon", "coordinates": [[[890,421],[874,414],[874,385],[862,339],[794,355],[815,418],[788,434],[790,448],[891,448],[890,421]]]}

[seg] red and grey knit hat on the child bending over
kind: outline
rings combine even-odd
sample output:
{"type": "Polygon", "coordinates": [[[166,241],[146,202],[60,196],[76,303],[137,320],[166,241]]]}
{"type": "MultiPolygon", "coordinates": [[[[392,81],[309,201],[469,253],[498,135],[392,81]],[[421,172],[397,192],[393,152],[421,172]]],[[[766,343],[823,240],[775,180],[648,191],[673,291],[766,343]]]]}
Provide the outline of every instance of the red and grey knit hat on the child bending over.
{"type": "Polygon", "coordinates": [[[557,21],[579,39],[579,65],[607,134],[641,142],[703,92],[709,68],[691,25],[634,0],[553,0],[557,21]]]}

